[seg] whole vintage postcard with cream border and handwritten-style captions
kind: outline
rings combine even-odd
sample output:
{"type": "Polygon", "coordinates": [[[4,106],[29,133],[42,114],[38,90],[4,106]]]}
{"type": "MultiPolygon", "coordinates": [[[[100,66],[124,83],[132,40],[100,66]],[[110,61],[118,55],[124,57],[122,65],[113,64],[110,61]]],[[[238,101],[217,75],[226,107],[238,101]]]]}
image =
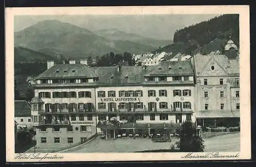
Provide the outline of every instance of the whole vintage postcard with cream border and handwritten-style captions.
{"type": "Polygon", "coordinates": [[[6,161],[251,158],[249,6],[6,8],[6,161]]]}

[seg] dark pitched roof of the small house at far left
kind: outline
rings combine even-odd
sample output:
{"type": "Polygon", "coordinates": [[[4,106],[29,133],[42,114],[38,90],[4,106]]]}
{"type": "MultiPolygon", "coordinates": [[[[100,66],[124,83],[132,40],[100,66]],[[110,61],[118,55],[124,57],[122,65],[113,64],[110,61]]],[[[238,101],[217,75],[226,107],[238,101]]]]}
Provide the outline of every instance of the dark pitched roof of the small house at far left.
{"type": "Polygon", "coordinates": [[[31,116],[30,104],[26,101],[14,101],[14,117],[31,116]]]}

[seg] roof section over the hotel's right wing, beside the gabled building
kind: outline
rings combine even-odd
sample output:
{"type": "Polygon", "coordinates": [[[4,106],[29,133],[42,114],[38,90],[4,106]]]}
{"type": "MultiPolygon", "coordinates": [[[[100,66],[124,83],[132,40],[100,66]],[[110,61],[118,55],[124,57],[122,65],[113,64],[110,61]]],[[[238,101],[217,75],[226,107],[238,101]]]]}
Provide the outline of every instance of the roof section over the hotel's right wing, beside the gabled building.
{"type": "Polygon", "coordinates": [[[147,73],[146,76],[154,75],[193,75],[193,67],[190,61],[162,61],[159,65],[147,73]]]}

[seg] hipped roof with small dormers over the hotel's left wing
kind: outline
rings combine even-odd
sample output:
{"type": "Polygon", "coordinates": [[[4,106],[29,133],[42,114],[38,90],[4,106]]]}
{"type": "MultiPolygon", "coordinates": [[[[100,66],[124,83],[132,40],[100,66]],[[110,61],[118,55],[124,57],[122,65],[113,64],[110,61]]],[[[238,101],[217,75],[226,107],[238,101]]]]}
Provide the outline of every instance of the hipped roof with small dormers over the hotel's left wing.
{"type": "Polygon", "coordinates": [[[43,78],[72,78],[72,77],[98,77],[92,68],[84,64],[55,64],[40,74],[37,79],[43,78]]]}

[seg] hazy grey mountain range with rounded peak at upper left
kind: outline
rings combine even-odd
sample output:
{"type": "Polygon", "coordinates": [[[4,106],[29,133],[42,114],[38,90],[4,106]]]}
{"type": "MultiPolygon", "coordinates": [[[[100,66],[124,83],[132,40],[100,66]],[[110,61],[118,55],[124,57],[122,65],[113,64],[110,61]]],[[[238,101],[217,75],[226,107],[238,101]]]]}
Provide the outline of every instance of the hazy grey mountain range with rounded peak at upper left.
{"type": "MultiPolygon", "coordinates": [[[[26,57],[21,58],[22,54],[19,54],[24,49],[51,57],[54,57],[55,53],[62,52],[62,55],[67,58],[87,58],[88,56],[95,58],[110,52],[115,54],[151,52],[169,43],[172,43],[172,40],[157,40],[118,30],[92,32],[58,20],[39,21],[31,27],[14,33],[17,61],[26,61],[26,57]]],[[[35,54],[35,59],[38,59],[36,55],[38,54],[35,54]]],[[[31,59],[30,56],[28,60],[31,59]]]]}

